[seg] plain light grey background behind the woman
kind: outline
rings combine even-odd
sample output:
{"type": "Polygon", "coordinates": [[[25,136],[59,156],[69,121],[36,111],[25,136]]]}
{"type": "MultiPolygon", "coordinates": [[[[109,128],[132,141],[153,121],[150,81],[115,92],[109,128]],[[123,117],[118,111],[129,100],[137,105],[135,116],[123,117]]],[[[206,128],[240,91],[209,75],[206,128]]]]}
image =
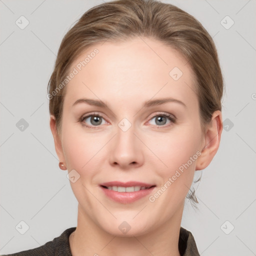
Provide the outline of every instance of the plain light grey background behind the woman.
{"type": "MultiPolygon", "coordinates": [[[[1,254],[37,247],[76,226],[77,201],[67,171],[58,168],[46,86],[64,34],[102,2],[0,0],[1,254]],[[21,15],[29,21],[24,29],[15,24],[21,15]],[[21,118],[28,123],[23,131],[16,126],[21,118]],[[15,228],[21,220],[29,226],[24,234],[15,228]]],[[[222,114],[228,129],[211,164],[196,172],[195,178],[202,172],[195,185],[198,210],[186,200],[181,225],[192,232],[201,255],[255,255],[256,1],[162,2],[192,14],[213,36],[226,86],[222,114]],[[230,25],[226,15],[234,21],[229,29],[222,25],[230,25]]]]}

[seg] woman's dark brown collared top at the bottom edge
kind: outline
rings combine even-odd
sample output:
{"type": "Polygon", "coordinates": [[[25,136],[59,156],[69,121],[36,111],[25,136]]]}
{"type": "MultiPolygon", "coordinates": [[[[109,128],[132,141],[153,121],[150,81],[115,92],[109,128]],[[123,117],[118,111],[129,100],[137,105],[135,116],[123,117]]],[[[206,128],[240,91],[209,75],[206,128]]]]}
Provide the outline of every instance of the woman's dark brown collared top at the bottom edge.
{"type": "MultiPolygon", "coordinates": [[[[39,247],[1,256],[72,256],[69,235],[75,229],[76,227],[69,227],[60,236],[39,247]]],[[[200,256],[192,233],[183,227],[180,227],[178,250],[181,256],[200,256]]]]}

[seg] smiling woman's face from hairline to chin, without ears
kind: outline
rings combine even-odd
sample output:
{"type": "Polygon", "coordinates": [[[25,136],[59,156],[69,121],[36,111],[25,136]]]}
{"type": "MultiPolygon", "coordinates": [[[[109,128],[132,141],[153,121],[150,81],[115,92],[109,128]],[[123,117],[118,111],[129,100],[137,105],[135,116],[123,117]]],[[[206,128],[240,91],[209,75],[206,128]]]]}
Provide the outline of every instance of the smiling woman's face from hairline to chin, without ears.
{"type": "Polygon", "coordinates": [[[160,41],[137,37],[94,44],[69,70],[59,158],[72,170],[79,214],[115,235],[123,227],[138,235],[180,220],[205,144],[189,63],[160,41]],[[85,98],[91,101],[75,103],[85,98]],[[146,193],[134,200],[132,192],[101,186],[111,181],[154,186],[133,192],[146,193]]]}

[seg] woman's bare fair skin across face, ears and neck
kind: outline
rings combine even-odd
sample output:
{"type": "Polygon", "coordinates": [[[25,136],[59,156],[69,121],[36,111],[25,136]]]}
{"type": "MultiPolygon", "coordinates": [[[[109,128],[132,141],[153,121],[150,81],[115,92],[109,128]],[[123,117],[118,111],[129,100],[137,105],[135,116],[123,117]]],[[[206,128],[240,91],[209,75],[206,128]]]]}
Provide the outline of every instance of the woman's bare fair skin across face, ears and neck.
{"type": "Polygon", "coordinates": [[[180,255],[178,236],[185,196],[194,171],[205,168],[218,149],[221,112],[212,114],[203,132],[192,69],[162,42],[136,37],[97,43],[77,57],[70,70],[94,48],[99,52],[66,85],[59,135],[55,118],[50,116],[59,161],[68,172],[75,169],[80,175],[70,182],[78,201],[77,227],[69,236],[72,255],[180,255]],[[176,81],[169,75],[175,66],[183,73],[176,81]],[[72,107],[83,97],[100,99],[108,107],[86,103],[72,107]],[[163,97],[178,99],[186,106],[166,102],[142,107],[147,100],[163,97]],[[79,121],[94,112],[102,116],[101,124],[88,117],[79,121]],[[176,121],[163,117],[157,122],[155,115],[160,113],[170,113],[176,121]],[[127,131],[118,126],[123,118],[131,124],[127,131]],[[150,202],[148,197],[196,151],[200,156],[150,202]],[[99,187],[113,180],[142,181],[156,187],[148,196],[124,204],[105,196],[99,187]],[[131,227],[125,234],[118,228],[123,221],[131,227]]]}

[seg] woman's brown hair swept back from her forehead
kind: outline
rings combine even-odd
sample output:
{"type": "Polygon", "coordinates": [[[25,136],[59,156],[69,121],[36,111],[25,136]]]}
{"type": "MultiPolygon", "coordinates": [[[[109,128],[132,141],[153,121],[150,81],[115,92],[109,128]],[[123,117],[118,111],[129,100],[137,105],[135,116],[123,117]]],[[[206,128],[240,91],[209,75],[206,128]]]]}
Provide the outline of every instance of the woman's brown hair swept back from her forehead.
{"type": "Polygon", "coordinates": [[[64,80],[74,59],[96,42],[127,40],[140,35],[166,43],[189,62],[196,77],[201,125],[205,130],[212,113],[221,110],[223,93],[217,50],[209,33],[192,15],[172,4],[116,0],[87,10],[61,41],[47,88],[49,112],[56,118],[58,133],[65,87],[58,93],[52,92],[64,80]]]}

